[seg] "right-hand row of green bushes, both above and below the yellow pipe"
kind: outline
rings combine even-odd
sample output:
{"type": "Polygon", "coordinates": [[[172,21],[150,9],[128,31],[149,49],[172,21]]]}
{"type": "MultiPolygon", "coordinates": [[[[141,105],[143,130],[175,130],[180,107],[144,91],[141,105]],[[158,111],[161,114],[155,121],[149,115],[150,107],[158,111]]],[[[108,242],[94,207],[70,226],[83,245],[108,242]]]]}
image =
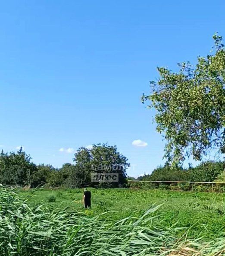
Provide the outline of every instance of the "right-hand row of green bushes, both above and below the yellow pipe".
{"type": "Polygon", "coordinates": [[[140,176],[138,177],[138,180],[151,182],[129,182],[129,187],[134,189],[225,192],[224,184],[219,183],[225,182],[225,161],[206,161],[200,163],[200,165],[196,167],[190,166],[187,169],[159,166],[152,172],[152,174],[140,176]],[[190,183],[187,181],[190,181],[190,183]],[[212,184],[201,182],[218,183],[212,184]]]}

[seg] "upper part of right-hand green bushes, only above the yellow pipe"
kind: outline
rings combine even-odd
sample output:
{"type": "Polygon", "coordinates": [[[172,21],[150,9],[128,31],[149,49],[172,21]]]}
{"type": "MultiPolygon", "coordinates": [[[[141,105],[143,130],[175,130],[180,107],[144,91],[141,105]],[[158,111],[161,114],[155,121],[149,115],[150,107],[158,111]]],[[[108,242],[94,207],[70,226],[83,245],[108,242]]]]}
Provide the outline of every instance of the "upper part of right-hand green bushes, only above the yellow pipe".
{"type": "Polygon", "coordinates": [[[138,180],[225,182],[225,161],[206,161],[187,169],[159,166],[150,175],[140,176],[138,180]]]}

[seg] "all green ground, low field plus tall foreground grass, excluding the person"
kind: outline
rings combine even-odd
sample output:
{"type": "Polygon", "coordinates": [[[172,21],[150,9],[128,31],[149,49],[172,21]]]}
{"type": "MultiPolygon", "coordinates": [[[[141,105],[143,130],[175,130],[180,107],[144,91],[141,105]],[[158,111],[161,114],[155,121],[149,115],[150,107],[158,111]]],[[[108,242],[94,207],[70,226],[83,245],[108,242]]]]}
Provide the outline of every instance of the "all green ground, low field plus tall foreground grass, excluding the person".
{"type": "Polygon", "coordinates": [[[224,194],[0,188],[3,256],[223,256],[224,194]]]}

